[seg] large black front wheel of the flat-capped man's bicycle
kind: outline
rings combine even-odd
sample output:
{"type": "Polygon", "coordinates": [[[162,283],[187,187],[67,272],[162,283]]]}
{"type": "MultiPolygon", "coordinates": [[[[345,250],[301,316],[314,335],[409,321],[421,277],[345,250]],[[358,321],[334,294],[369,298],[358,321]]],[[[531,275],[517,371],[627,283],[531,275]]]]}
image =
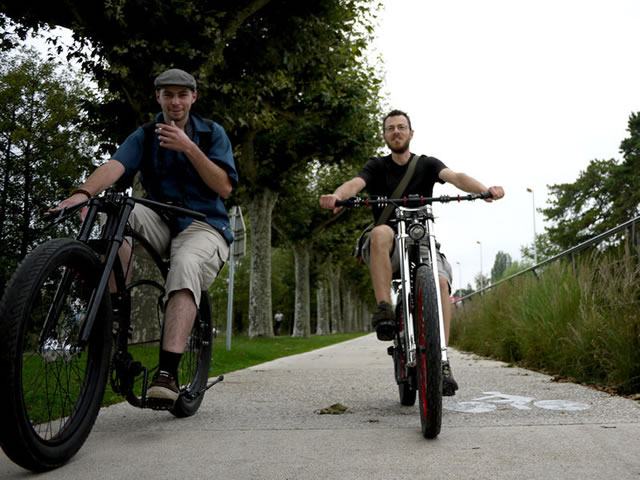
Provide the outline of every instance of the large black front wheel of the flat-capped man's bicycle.
{"type": "Polygon", "coordinates": [[[26,469],[64,464],[98,415],[111,351],[108,294],[87,345],[79,333],[100,272],[85,244],[51,240],[25,258],[0,302],[0,445],[26,469]]]}

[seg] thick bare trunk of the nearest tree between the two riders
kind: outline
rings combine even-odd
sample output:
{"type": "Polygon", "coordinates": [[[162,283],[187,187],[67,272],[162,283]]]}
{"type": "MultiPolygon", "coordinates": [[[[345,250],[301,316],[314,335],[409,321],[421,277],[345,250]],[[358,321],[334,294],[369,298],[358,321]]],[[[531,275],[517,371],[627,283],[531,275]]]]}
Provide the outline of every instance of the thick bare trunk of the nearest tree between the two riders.
{"type": "Polygon", "coordinates": [[[249,282],[249,338],[273,337],[271,305],[271,213],[278,194],[269,189],[248,203],[251,222],[251,279],[249,282]]]}

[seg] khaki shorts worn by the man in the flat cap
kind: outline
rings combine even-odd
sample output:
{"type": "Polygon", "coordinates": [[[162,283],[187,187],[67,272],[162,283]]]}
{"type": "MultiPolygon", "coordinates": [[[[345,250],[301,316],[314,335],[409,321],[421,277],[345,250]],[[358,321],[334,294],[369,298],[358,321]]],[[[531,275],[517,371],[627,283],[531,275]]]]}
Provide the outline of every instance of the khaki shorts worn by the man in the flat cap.
{"type": "MultiPolygon", "coordinates": [[[[200,305],[200,292],[209,289],[229,259],[230,249],[224,237],[208,223],[194,220],[172,239],[169,227],[160,216],[140,204],[131,212],[129,224],[162,257],[169,258],[171,268],[165,283],[165,301],[171,292],[188,289],[200,305]]],[[[134,245],[134,253],[148,256],[140,245],[134,245]]]]}

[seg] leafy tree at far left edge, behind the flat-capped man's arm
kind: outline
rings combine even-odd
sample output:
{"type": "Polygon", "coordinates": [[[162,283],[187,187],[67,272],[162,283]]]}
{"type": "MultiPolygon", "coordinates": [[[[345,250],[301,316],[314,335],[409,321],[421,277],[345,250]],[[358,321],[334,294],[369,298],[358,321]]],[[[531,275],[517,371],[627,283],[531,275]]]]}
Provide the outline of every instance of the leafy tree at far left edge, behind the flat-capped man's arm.
{"type": "Polygon", "coordinates": [[[36,222],[92,167],[95,138],[82,105],[90,91],[22,50],[0,60],[0,285],[37,240],[36,222]]]}

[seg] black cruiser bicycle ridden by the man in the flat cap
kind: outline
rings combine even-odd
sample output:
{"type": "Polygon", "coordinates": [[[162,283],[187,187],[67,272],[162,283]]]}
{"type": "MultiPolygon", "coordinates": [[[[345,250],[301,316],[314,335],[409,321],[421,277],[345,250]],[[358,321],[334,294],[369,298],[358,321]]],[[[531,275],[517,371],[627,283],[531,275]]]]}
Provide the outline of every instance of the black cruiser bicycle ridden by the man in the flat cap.
{"type": "MultiPolygon", "coordinates": [[[[129,226],[136,203],[161,216],[204,219],[192,210],[117,191],[62,210],[48,227],[88,207],[77,238],[57,238],[34,249],[0,301],[0,445],[26,469],[59,467],[81,448],[107,382],[131,405],[158,408],[146,392],[157,370],[169,265],[129,226]],[[146,250],[157,279],[145,274],[127,281],[130,265],[118,257],[125,237],[146,250]],[[137,322],[141,316],[147,317],[144,327],[137,322]]],[[[180,394],[170,409],[177,417],[196,413],[204,392],[223,379],[208,383],[212,331],[209,294],[203,291],[179,366],[180,394]]]]}

